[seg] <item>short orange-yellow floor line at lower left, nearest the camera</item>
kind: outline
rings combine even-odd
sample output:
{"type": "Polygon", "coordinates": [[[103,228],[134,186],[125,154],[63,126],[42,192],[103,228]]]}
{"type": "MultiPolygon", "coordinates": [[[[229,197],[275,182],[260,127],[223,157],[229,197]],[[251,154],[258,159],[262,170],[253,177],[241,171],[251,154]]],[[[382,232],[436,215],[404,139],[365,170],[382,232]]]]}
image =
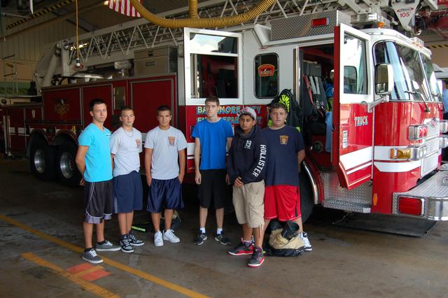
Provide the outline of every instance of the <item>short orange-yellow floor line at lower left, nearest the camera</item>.
{"type": "Polygon", "coordinates": [[[94,295],[97,295],[99,297],[119,297],[118,295],[113,294],[113,292],[109,292],[108,290],[101,288],[98,285],[95,285],[94,283],[84,281],[83,278],[75,276],[74,274],[71,274],[65,271],[64,269],[57,267],[57,265],[41,259],[40,257],[34,255],[34,253],[23,253],[22,257],[25,257],[27,260],[30,260],[31,262],[34,262],[39,266],[47,267],[48,269],[55,271],[56,274],[63,276],[69,281],[73,281],[73,283],[76,283],[81,288],[91,292],[94,295]]]}

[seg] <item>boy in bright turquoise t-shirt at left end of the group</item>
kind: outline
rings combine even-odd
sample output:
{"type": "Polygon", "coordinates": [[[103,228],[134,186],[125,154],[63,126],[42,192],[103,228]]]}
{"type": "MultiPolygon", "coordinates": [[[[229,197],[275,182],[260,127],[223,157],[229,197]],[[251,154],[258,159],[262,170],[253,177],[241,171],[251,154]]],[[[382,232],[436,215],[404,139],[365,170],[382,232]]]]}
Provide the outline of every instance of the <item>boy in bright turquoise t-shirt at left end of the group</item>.
{"type": "Polygon", "coordinates": [[[90,101],[92,123],[85,127],[78,138],[76,166],[83,175],[80,185],[84,185],[84,241],[85,250],[81,255],[86,262],[102,263],[97,255],[99,251],[116,251],[114,246],[104,239],[104,220],[110,220],[113,213],[112,159],[109,148],[111,132],[104,127],[107,107],[102,99],[90,101]],[[96,225],[97,245],[92,246],[93,225],[96,225]]]}

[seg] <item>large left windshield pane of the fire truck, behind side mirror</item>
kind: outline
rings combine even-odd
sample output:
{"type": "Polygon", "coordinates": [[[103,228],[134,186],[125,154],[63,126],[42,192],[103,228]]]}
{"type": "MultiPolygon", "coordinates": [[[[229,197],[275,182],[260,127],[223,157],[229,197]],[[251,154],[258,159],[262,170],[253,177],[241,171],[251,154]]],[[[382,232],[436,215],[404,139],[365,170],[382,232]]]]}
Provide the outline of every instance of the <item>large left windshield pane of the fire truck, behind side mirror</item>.
{"type": "Polygon", "coordinates": [[[375,64],[388,63],[393,68],[394,90],[391,100],[432,101],[418,51],[392,41],[374,46],[375,64]]]}

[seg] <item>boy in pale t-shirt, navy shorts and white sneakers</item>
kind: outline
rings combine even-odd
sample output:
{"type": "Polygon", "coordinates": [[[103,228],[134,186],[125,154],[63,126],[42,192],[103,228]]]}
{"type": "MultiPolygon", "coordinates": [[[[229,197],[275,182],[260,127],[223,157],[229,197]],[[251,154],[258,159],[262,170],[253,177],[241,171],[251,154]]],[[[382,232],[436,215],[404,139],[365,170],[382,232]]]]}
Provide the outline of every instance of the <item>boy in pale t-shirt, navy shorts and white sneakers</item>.
{"type": "Polygon", "coordinates": [[[148,211],[155,229],[154,245],[163,241],[181,241],[171,229],[175,209],[183,208],[182,180],[185,175],[187,141],[179,129],[172,127],[169,106],[157,109],[158,127],[146,134],[145,169],[148,191],[148,211]],[[178,162],[179,158],[179,162],[178,162]],[[160,232],[160,212],[165,208],[165,230],[160,232]]]}

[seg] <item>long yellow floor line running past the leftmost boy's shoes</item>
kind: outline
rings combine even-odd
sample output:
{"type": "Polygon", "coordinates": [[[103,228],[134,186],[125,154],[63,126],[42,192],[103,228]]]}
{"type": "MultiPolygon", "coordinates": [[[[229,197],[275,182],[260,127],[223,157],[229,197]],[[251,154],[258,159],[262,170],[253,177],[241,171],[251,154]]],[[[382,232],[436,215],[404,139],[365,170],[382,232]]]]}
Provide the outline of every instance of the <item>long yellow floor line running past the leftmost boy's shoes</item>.
{"type": "MultiPolygon", "coordinates": [[[[69,248],[69,250],[73,250],[76,253],[82,253],[84,251],[83,248],[80,248],[79,246],[75,246],[69,242],[66,242],[61,239],[57,239],[56,237],[47,235],[41,231],[38,231],[37,229],[33,229],[32,227],[28,227],[27,225],[22,224],[22,222],[18,222],[17,220],[13,220],[12,218],[9,218],[6,215],[0,214],[0,219],[4,220],[6,222],[9,222],[11,225],[15,225],[16,227],[20,227],[21,229],[24,229],[25,231],[34,234],[36,236],[39,236],[47,241],[50,241],[52,243],[57,243],[59,246],[63,246],[64,248],[69,248]]],[[[169,290],[173,290],[176,292],[179,292],[183,295],[186,295],[188,297],[207,297],[205,295],[202,295],[198,292],[195,292],[193,290],[189,290],[187,288],[183,288],[181,285],[176,285],[175,283],[171,283],[169,281],[165,281],[162,278],[158,278],[156,276],[153,276],[152,274],[147,274],[144,271],[140,271],[138,269],[134,269],[132,267],[129,267],[125,264],[122,264],[120,262],[116,262],[114,260],[111,260],[109,258],[103,257],[104,263],[109,264],[113,267],[116,267],[118,269],[121,269],[123,271],[126,271],[130,274],[134,274],[135,276],[139,276],[140,278],[144,278],[147,281],[151,281],[153,283],[156,283],[158,285],[162,285],[162,287],[165,287],[169,290]]]]}

